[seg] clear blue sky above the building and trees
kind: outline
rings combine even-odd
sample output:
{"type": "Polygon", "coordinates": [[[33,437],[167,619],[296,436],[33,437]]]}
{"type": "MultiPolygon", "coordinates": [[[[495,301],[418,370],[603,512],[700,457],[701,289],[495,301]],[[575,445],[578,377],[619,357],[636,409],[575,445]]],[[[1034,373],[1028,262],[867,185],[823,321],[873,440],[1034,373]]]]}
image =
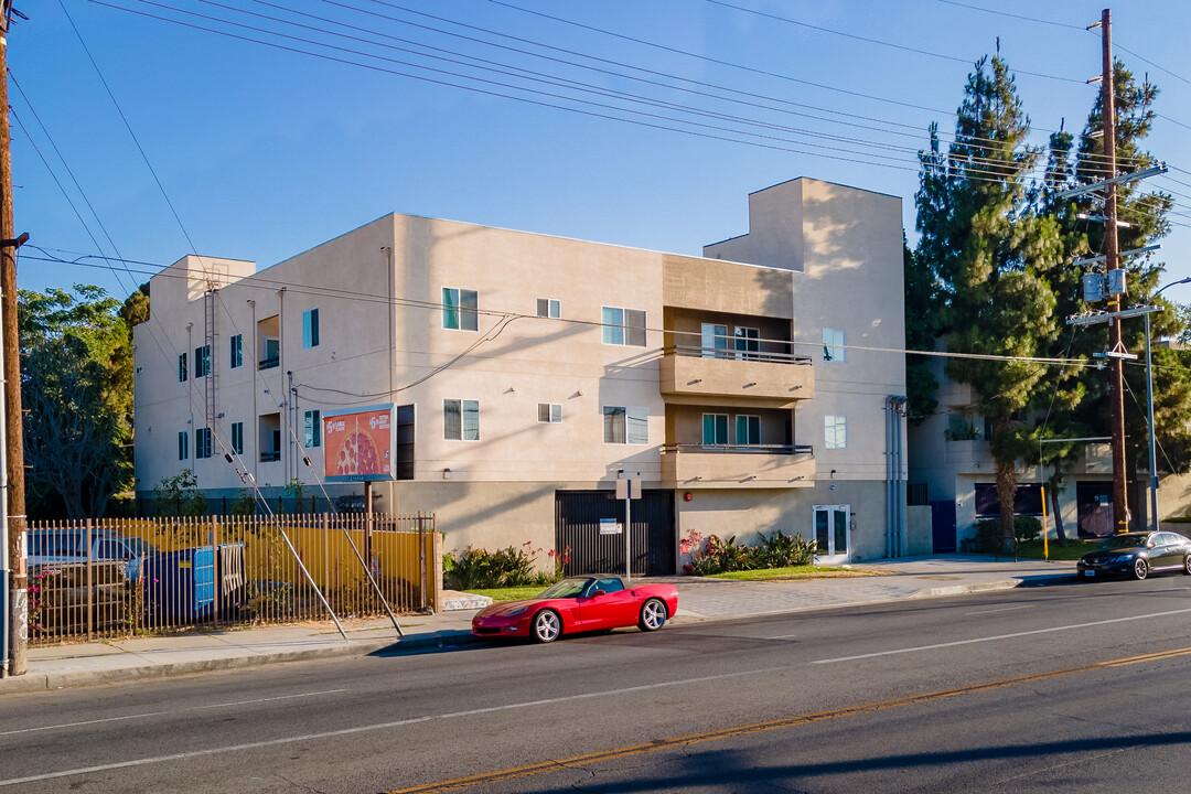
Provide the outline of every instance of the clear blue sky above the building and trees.
{"type": "MultiPolygon", "coordinates": [[[[23,249],[18,283],[98,283],[123,298],[192,250],[263,268],[394,211],[699,254],[748,230],[748,193],[797,176],[900,196],[912,240],[915,151],[930,121],[953,130],[972,62],[999,37],[1034,140],[1061,123],[1078,132],[1098,90],[1084,81],[1100,70],[1099,37],[1081,27],[1102,7],[18,5],[29,19],[8,36],[17,231],[77,261],[23,249]],[[96,255],[137,264],[108,268],[96,255]]],[[[1185,213],[1159,255],[1165,283],[1191,275],[1191,4],[1122,2],[1112,14],[1117,56],[1162,90],[1148,149],[1173,168],[1149,186],[1176,193],[1185,213]]],[[[1189,287],[1165,294],[1191,301],[1189,287]]]]}

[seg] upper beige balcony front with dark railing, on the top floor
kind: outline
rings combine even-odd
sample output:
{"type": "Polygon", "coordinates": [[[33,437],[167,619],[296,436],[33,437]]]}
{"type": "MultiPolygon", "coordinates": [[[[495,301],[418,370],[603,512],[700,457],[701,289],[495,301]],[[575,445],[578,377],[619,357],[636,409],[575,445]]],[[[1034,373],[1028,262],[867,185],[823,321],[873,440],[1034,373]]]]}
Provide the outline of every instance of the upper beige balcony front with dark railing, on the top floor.
{"type": "Polygon", "coordinates": [[[792,407],[815,396],[810,356],[675,345],[662,354],[660,390],[671,402],[755,401],[792,407]]]}

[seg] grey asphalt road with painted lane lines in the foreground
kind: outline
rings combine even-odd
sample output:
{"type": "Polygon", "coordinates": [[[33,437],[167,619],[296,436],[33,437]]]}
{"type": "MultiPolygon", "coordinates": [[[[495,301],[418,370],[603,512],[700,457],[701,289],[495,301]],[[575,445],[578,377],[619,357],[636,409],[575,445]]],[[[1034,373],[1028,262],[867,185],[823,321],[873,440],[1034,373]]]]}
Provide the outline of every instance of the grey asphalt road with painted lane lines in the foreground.
{"type": "Polygon", "coordinates": [[[1185,792],[1191,577],[0,700],[13,792],[1185,792]]]}

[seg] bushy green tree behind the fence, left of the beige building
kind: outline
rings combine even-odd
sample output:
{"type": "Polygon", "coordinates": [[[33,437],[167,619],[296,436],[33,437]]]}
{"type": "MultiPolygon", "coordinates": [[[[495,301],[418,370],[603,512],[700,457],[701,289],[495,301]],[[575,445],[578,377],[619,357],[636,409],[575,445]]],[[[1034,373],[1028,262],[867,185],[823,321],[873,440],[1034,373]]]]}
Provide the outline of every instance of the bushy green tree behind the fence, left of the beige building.
{"type": "Polygon", "coordinates": [[[119,304],[79,285],[19,299],[30,514],[102,515],[132,476],[132,358],[119,304]]]}

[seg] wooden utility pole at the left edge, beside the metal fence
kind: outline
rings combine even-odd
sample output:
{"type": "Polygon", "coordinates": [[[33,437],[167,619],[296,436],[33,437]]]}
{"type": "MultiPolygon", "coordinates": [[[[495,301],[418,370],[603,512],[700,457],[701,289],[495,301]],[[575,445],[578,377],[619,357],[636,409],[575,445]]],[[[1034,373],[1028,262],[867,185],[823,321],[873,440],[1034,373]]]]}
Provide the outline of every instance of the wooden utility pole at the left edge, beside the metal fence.
{"type": "Polygon", "coordinates": [[[4,405],[8,476],[8,675],[25,675],[29,646],[29,559],[25,555],[25,443],[21,434],[20,346],[17,330],[17,248],[12,218],[12,152],[8,136],[8,21],[11,0],[0,17],[0,314],[4,324],[4,405]]]}

